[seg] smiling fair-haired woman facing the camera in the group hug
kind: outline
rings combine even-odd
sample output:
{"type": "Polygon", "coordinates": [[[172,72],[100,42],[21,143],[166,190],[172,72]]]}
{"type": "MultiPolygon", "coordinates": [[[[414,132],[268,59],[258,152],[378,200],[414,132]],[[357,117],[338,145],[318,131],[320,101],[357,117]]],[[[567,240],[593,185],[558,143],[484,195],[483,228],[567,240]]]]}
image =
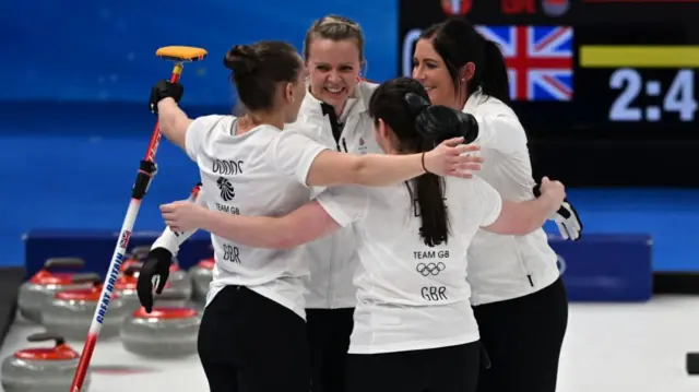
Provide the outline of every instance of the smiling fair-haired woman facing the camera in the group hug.
{"type": "MultiPolygon", "coordinates": [[[[328,15],[313,22],[304,40],[309,71],[308,92],[298,119],[287,129],[330,149],[352,154],[381,153],[374,138],[368,103],[377,84],[362,81],[365,63],[362,27],[343,16],[328,15]]],[[[313,188],[312,195],[324,188],[313,188]]],[[[199,202],[204,205],[205,192],[199,202]]],[[[151,265],[166,265],[193,231],[169,228],[153,243],[151,265]]],[[[310,274],[306,283],[306,319],[311,358],[311,392],[342,392],[352,333],[358,264],[352,229],[307,245],[310,274]]],[[[150,266],[146,266],[150,269],[150,266]]],[[[164,280],[162,280],[164,281],[164,280]]]]}

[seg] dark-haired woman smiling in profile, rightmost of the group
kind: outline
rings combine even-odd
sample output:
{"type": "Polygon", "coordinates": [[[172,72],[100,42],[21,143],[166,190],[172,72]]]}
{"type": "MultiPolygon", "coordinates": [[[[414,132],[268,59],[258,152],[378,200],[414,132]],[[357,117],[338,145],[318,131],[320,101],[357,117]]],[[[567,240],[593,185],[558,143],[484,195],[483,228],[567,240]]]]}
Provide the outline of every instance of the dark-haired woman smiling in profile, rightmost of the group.
{"type": "MultiPolygon", "coordinates": [[[[507,67],[494,41],[461,19],[436,24],[417,40],[413,78],[427,88],[433,104],[487,120],[499,133],[498,143],[482,145],[485,164],[478,177],[506,199],[535,197],[540,186],[532,179],[526,134],[507,105],[507,67]]],[[[580,236],[578,214],[567,201],[552,217],[564,238],[580,236]]],[[[469,249],[471,301],[491,360],[478,392],[556,390],[568,323],[568,300],[556,263],[542,228],[522,236],[488,230],[474,236],[469,249]]]]}

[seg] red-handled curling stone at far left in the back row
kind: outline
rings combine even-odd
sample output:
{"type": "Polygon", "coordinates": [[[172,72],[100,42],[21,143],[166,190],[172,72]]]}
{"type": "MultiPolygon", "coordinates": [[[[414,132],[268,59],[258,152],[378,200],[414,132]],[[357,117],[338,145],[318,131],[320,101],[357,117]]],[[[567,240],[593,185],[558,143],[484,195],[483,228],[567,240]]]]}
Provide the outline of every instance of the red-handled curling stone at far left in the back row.
{"type": "Polygon", "coordinates": [[[87,288],[90,284],[72,283],[75,273],[56,272],[59,269],[82,268],[85,262],[79,258],[51,258],[32,278],[20,286],[17,308],[20,314],[27,320],[42,322],[42,310],[59,290],[87,288]]]}

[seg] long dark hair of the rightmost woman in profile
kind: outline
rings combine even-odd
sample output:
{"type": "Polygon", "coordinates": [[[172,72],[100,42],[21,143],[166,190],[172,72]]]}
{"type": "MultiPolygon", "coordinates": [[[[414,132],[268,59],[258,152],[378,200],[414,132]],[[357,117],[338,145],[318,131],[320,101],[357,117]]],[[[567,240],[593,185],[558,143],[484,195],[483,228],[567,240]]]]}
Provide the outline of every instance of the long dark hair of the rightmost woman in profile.
{"type": "Polygon", "coordinates": [[[431,41],[435,51],[445,61],[457,92],[461,88],[461,70],[472,62],[475,71],[467,84],[469,94],[481,87],[485,95],[506,104],[510,102],[505,57],[500,48],[484,38],[471,23],[461,17],[448,19],[424,31],[420,39],[431,41]]]}

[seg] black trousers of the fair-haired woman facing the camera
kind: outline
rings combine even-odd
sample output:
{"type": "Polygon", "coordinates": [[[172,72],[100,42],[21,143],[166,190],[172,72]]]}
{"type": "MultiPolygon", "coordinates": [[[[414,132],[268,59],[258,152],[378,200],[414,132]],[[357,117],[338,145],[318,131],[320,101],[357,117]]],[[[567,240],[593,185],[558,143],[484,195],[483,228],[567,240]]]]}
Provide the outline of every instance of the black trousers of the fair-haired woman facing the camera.
{"type": "Polygon", "coordinates": [[[311,392],[344,392],[354,308],[306,309],[311,392]]]}

